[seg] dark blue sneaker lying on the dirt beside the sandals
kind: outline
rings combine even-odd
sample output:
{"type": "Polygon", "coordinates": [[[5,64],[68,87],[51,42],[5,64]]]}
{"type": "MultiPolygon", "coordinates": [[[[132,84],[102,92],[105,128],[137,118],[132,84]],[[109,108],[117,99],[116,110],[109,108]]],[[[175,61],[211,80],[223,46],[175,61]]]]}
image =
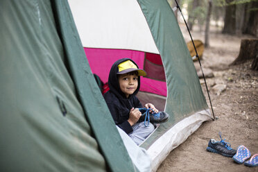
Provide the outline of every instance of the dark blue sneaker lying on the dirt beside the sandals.
{"type": "MultiPolygon", "coordinates": [[[[219,132],[218,135],[221,137],[221,132],[219,132]]],[[[233,157],[236,154],[236,150],[232,149],[231,145],[222,138],[221,141],[210,139],[206,150],[212,153],[221,154],[225,157],[233,157]]]]}

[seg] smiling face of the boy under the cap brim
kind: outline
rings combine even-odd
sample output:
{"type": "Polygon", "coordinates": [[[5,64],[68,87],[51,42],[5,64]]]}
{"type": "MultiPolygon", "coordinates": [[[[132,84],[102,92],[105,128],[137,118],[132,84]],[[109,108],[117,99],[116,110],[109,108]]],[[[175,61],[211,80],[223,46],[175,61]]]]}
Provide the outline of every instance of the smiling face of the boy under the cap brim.
{"type": "Polygon", "coordinates": [[[119,86],[126,97],[133,94],[138,87],[138,76],[136,74],[119,75],[119,86]]]}

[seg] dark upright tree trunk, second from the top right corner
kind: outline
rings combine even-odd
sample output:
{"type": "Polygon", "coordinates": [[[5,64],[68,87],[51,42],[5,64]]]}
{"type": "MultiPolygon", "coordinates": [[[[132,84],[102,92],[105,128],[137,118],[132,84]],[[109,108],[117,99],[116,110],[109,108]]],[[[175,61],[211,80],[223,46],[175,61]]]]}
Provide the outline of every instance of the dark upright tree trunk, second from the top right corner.
{"type": "MultiPolygon", "coordinates": [[[[234,0],[226,0],[227,4],[234,0]]],[[[226,6],[224,28],[222,33],[235,34],[236,33],[236,5],[232,4],[226,6]]]]}

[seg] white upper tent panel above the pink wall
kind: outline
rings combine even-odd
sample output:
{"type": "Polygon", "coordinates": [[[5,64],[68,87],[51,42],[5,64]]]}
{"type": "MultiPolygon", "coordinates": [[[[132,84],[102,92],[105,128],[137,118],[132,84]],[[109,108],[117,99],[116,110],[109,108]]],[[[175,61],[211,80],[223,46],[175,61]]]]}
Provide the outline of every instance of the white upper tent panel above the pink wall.
{"type": "Polygon", "coordinates": [[[159,53],[135,0],[69,0],[84,47],[159,53]]]}

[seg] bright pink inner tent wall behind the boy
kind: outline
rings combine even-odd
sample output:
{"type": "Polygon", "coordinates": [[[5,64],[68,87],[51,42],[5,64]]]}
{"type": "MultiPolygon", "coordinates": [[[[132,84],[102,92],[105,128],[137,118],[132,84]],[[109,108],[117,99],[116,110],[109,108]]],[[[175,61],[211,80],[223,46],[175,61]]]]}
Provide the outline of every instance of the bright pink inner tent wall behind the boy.
{"type": "MultiPolygon", "coordinates": [[[[107,83],[113,63],[121,58],[130,58],[137,63],[140,69],[144,69],[145,52],[142,51],[92,48],[84,48],[84,50],[92,73],[98,75],[103,83],[107,83]]],[[[166,82],[142,77],[140,91],[166,96],[166,82]]]]}

